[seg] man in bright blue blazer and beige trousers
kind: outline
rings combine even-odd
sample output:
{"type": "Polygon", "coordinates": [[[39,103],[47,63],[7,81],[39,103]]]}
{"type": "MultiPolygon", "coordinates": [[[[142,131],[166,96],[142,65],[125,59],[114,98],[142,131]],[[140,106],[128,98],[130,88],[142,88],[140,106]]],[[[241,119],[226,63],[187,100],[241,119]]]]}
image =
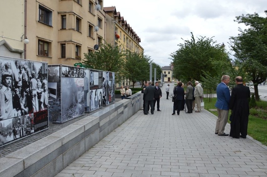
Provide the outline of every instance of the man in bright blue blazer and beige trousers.
{"type": "Polygon", "coordinates": [[[215,106],[217,107],[218,119],[216,121],[215,134],[219,136],[228,136],[224,133],[224,127],[227,124],[229,103],[230,103],[230,91],[228,84],[230,82],[230,76],[223,75],[222,82],[217,86],[217,101],[215,106]]]}

